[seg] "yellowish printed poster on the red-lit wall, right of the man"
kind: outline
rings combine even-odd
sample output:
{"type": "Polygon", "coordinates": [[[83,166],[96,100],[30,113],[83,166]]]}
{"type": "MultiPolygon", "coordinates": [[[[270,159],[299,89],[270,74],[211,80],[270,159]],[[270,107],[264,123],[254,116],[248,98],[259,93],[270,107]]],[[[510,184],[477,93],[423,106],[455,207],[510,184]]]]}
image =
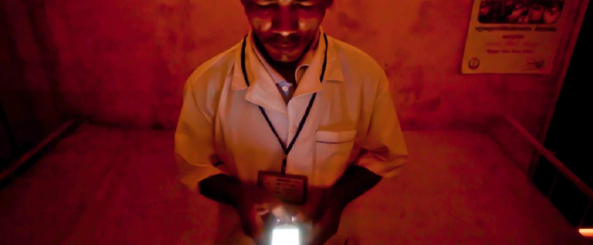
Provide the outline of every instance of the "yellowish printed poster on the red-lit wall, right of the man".
{"type": "Polygon", "coordinates": [[[550,73],[564,2],[474,0],[461,72],[550,73]]]}

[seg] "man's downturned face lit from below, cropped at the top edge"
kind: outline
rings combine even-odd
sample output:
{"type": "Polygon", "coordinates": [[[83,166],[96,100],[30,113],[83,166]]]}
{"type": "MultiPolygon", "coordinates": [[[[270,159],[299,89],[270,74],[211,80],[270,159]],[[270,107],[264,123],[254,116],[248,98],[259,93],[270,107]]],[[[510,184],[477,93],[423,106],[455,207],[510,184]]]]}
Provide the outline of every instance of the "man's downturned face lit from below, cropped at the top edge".
{"type": "Polygon", "coordinates": [[[242,0],[253,33],[277,62],[295,62],[333,0],[242,0]]]}

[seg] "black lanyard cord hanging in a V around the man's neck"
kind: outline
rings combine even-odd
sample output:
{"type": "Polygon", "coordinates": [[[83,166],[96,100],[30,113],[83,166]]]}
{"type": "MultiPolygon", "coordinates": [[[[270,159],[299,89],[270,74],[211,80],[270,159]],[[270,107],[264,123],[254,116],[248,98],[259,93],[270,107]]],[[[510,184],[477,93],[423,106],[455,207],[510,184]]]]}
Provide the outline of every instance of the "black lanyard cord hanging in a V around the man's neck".
{"type": "MultiPolygon", "coordinates": [[[[319,80],[321,82],[323,82],[323,76],[326,74],[326,66],[327,66],[327,36],[325,33],[323,34],[323,38],[326,42],[326,51],[325,51],[325,57],[323,59],[323,67],[321,67],[321,77],[319,78],[319,80]]],[[[247,79],[247,69],[245,67],[245,46],[246,46],[246,43],[247,43],[247,36],[245,36],[243,38],[243,46],[241,47],[241,69],[243,70],[243,77],[245,78],[245,83],[247,83],[247,86],[249,86],[249,80],[247,79]]],[[[307,117],[309,117],[309,112],[311,112],[311,107],[313,107],[313,102],[315,101],[315,97],[317,97],[317,93],[314,93],[313,96],[311,97],[311,100],[309,101],[309,105],[307,105],[307,110],[305,111],[305,115],[302,116],[301,123],[299,123],[299,125],[298,125],[297,133],[295,134],[295,137],[292,138],[292,141],[288,145],[288,148],[286,148],[284,143],[282,143],[282,140],[280,140],[280,136],[278,136],[278,133],[276,132],[276,128],[274,128],[274,125],[272,125],[270,118],[267,117],[266,111],[264,111],[264,109],[261,105],[258,105],[258,107],[260,108],[260,111],[262,111],[263,117],[266,118],[267,125],[270,126],[272,133],[274,133],[274,135],[278,139],[278,142],[280,143],[280,146],[282,146],[282,150],[284,150],[284,159],[282,160],[282,168],[280,169],[280,173],[282,175],[286,175],[286,157],[288,157],[288,153],[292,150],[292,146],[294,146],[295,142],[297,141],[299,134],[301,134],[301,130],[305,125],[305,121],[307,121],[307,117]]]]}

